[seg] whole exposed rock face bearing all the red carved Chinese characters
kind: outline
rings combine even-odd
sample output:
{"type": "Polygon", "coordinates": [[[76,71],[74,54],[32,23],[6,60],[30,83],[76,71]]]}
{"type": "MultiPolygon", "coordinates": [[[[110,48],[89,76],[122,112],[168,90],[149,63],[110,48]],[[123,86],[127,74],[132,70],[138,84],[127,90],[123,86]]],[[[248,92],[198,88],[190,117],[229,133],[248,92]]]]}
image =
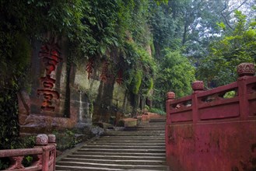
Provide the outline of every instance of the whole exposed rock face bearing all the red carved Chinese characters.
{"type": "Polygon", "coordinates": [[[118,75],[110,75],[106,61],[68,61],[65,40],[33,43],[30,91],[19,93],[20,134],[48,133],[54,129],[86,127],[93,121],[110,122],[129,112],[118,75]]]}

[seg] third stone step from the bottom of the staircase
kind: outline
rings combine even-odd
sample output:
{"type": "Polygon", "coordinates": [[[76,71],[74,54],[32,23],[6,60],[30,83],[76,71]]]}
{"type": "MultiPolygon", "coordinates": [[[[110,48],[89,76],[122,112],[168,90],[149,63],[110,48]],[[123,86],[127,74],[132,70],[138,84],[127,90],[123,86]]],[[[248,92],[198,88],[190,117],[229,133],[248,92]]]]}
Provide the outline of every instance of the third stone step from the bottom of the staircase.
{"type": "Polygon", "coordinates": [[[96,152],[87,152],[87,151],[77,151],[77,152],[73,152],[73,155],[110,155],[110,156],[149,156],[149,157],[165,157],[165,152],[147,152],[147,153],[143,153],[143,152],[100,152],[100,151],[96,151],[96,152]]]}

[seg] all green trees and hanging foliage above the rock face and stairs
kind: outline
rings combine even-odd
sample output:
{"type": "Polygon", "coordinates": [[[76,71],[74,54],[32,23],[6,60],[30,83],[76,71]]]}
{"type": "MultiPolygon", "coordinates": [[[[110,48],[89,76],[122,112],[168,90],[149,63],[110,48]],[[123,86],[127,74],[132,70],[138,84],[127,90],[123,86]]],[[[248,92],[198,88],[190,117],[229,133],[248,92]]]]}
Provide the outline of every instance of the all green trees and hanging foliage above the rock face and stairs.
{"type": "Polygon", "coordinates": [[[123,86],[133,96],[134,111],[140,98],[164,110],[168,91],[188,95],[195,78],[209,88],[220,86],[236,79],[234,69],[240,62],[256,62],[255,1],[237,1],[230,8],[227,2],[2,0],[1,147],[15,148],[19,137],[16,94],[30,89],[24,80],[34,40],[65,37],[71,54],[68,65],[88,58],[111,61],[113,70],[124,71],[123,86]],[[248,16],[235,10],[243,5],[248,16]]]}

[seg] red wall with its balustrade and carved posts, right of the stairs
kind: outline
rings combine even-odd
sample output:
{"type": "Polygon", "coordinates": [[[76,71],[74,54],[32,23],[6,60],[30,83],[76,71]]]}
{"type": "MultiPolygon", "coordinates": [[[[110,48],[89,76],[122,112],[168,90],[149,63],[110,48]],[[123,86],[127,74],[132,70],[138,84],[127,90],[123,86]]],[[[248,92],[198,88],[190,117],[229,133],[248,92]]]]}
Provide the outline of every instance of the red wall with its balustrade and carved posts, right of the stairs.
{"type": "MultiPolygon", "coordinates": [[[[237,82],[190,96],[167,93],[167,162],[174,170],[256,168],[256,77],[254,64],[238,65],[237,82]],[[227,92],[233,96],[226,98],[227,92]],[[255,155],[255,156],[254,156],[255,155]],[[240,164],[246,163],[246,164],[240,164]]],[[[249,169],[248,169],[249,170],[249,169]]]]}

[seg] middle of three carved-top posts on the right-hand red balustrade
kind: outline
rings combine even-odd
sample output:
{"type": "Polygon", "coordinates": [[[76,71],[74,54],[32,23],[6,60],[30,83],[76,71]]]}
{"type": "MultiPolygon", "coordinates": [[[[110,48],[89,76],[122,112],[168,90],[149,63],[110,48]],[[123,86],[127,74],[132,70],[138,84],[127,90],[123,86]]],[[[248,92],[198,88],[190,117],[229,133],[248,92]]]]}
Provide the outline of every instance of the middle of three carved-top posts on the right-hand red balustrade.
{"type": "Polygon", "coordinates": [[[198,92],[204,91],[204,82],[195,81],[192,83],[192,115],[193,115],[193,123],[197,123],[199,120],[198,117],[198,92]]]}

